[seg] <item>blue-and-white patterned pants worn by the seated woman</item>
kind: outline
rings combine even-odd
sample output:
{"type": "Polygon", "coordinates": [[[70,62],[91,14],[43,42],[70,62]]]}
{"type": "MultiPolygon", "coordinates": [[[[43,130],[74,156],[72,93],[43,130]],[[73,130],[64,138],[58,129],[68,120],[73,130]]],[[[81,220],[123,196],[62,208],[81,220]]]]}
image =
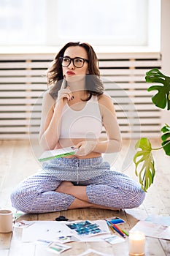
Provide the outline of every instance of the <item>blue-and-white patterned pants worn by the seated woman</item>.
{"type": "Polygon", "coordinates": [[[26,178],[11,194],[12,206],[26,213],[67,210],[75,197],[55,192],[62,181],[86,186],[90,203],[109,208],[135,208],[145,193],[136,181],[110,170],[102,157],[90,159],[56,158],[44,162],[42,169],[26,178]]]}

